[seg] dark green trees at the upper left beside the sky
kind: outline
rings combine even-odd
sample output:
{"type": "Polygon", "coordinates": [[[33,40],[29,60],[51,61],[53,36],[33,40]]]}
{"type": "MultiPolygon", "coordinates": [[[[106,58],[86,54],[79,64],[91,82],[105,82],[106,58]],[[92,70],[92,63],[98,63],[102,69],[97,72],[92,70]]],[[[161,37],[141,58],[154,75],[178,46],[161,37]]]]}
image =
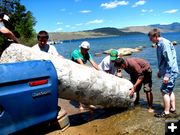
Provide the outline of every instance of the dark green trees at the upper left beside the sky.
{"type": "MultiPolygon", "coordinates": [[[[31,46],[36,42],[36,32],[33,29],[36,19],[31,11],[26,11],[26,7],[21,5],[20,0],[0,0],[0,13],[10,17],[6,27],[19,38],[20,43],[31,46]]],[[[0,35],[0,45],[3,46],[6,41],[7,39],[0,35]]]]}

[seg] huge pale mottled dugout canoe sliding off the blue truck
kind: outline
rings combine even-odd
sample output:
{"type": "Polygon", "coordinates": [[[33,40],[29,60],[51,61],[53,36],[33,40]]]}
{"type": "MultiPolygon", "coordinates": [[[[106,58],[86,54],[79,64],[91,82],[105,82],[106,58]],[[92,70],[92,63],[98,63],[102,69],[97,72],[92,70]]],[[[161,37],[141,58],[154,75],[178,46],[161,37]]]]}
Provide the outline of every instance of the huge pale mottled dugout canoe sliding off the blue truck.
{"type": "Polygon", "coordinates": [[[11,44],[3,52],[0,62],[27,60],[52,61],[59,80],[60,98],[103,107],[128,107],[134,102],[134,98],[128,96],[133,86],[129,80],[76,64],[63,57],[34,51],[21,44],[11,44]]]}

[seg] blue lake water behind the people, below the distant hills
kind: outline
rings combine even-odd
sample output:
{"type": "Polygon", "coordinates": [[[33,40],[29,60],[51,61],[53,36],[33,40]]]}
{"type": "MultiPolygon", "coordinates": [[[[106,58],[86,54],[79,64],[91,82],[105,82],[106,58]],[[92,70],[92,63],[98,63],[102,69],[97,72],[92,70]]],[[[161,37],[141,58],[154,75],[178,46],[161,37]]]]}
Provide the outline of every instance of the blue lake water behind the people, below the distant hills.
{"type": "MultiPolygon", "coordinates": [[[[175,46],[177,51],[178,58],[178,66],[180,67],[180,33],[165,33],[162,35],[163,37],[169,39],[170,41],[176,41],[179,45],[175,46]]],[[[126,36],[118,36],[118,37],[107,37],[107,38],[94,38],[94,39],[82,39],[82,40],[69,40],[62,44],[57,44],[55,47],[58,52],[63,55],[65,58],[70,59],[71,52],[74,49],[79,48],[79,45],[82,41],[87,40],[90,42],[91,49],[90,53],[93,56],[94,61],[99,64],[101,60],[106,56],[102,54],[99,57],[95,56],[95,53],[102,53],[108,49],[114,48],[126,48],[131,47],[135,48],[138,46],[144,46],[143,51],[139,53],[134,53],[131,57],[140,57],[144,58],[151,64],[153,69],[153,86],[159,87],[159,83],[161,79],[156,78],[157,73],[157,58],[156,58],[156,49],[152,48],[152,43],[149,41],[147,35],[126,35],[126,36]]],[[[180,68],[179,68],[180,69],[180,68]]],[[[176,81],[176,88],[180,90],[180,79],[178,78],[176,81]]]]}

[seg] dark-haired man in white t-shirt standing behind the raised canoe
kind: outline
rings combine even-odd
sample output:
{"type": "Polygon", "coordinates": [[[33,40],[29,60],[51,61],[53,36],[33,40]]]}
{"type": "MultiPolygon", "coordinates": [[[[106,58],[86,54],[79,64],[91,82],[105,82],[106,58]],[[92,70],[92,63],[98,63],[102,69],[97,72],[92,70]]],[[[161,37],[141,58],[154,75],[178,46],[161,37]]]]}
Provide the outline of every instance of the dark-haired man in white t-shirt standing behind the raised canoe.
{"type": "Polygon", "coordinates": [[[47,44],[47,41],[49,39],[48,32],[44,30],[40,31],[37,35],[37,39],[38,39],[38,44],[32,47],[34,50],[39,50],[50,53],[52,55],[60,56],[54,46],[47,44]]]}

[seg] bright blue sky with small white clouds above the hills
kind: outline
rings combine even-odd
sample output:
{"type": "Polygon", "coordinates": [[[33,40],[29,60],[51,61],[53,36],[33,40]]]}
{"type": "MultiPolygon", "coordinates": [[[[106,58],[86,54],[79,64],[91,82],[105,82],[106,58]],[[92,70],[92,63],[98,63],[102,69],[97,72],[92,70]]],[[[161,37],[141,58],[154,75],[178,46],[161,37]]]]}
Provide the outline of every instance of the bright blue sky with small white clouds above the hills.
{"type": "Polygon", "coordinates": [[[21,0],[36,32],[73,32],[180,22],[180,0],[21,0]]]}

